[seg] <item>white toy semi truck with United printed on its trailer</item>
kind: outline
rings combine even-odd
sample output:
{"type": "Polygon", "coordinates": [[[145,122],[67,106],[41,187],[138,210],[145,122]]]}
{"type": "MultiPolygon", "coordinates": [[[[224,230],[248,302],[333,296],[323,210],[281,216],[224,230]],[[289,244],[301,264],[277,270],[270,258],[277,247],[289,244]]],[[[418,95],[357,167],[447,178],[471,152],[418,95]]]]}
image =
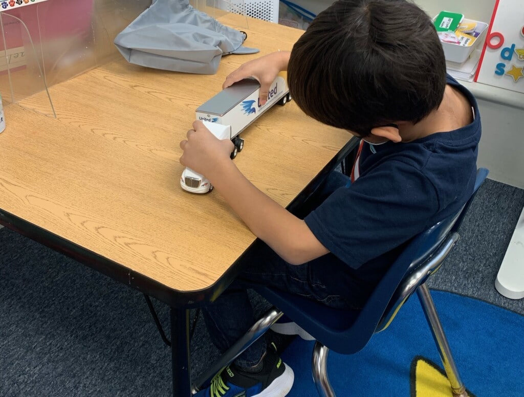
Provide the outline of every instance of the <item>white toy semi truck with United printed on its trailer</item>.
{"type": "MultiPolygon", "coordinates": [[[[275,104],[285,105],[291,100],[286,80],[278,76],[269,88],[267,102],[260,105],[260,84],[255,79],[244,79],[227,87],[196,109],[196,119],[219,139],[231,139],[234,159],[244,148],[239,134],[275,104]]],[[[203,175],[185,168],[180,178],[182,189],[192,193],[207,193],[213,189],[203,175]]]]}

